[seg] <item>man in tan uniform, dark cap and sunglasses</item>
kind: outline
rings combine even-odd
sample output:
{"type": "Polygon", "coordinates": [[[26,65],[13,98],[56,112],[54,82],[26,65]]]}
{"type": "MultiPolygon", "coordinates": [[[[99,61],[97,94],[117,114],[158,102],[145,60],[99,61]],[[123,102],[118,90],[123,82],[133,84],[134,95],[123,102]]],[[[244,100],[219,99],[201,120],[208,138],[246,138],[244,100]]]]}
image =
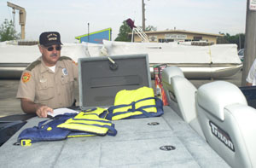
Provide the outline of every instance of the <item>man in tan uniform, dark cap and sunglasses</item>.
{"type": "Polygon", "coordinates": [[[17,98],[25,113],[47,117],[54,108],[70,107],[74,102],[74,79],[78,65],[67,56],[61,56],[59,32],[43,32],[39,38],[42,54],[22,73],[17,98]]]}

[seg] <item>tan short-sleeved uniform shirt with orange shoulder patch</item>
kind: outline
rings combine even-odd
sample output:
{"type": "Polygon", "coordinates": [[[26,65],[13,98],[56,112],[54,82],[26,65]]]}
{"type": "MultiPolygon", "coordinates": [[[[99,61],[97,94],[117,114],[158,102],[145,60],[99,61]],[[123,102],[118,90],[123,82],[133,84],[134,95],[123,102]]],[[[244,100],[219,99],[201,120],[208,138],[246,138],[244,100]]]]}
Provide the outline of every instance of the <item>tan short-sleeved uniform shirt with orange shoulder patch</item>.
{"type": "Polygon", "coordinates": [[[74,101],[74,79],[78,76],[78,65],[68,57],[61,56],[55,72],[40,57],[22,73],[16,97],[51,108],[70,107],[74,101]]]}

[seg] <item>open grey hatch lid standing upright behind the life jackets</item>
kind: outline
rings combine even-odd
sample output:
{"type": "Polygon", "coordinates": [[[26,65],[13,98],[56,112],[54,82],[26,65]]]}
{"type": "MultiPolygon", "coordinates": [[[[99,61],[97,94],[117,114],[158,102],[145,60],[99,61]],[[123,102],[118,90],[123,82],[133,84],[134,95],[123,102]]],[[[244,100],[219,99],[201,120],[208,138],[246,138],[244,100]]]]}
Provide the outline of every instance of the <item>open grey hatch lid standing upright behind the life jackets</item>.
{"type": "Polygon", "coordinates": [[[79,58],[81,109],[113,106],[119,90],[151,87],[148,55],[79,58]]]}

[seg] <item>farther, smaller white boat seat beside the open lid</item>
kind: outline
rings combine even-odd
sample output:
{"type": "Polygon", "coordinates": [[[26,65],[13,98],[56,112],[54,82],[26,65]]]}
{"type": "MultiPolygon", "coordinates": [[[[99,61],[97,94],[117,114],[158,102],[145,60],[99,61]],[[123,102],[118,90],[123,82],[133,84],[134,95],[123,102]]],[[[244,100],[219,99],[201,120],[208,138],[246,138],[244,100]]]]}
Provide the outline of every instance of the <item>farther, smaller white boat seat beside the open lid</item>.
{"type": "Polygon", "coordinates": [[[170,107],[204,138],[195,110],[195,86],[179,67],[166,67],[162,72],[162,83],[170,107]]]}

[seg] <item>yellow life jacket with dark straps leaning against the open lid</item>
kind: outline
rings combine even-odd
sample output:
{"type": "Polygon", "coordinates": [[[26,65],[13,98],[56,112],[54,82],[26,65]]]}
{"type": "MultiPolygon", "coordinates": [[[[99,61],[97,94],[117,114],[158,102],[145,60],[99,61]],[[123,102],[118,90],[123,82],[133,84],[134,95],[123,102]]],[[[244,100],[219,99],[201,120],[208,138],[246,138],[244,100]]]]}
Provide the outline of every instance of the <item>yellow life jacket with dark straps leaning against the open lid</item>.
{"type": "Polygon", "coordinates": [[[154,90],[146,86],[137,90],[120,90],[114,106],[108,108],[107,119],[155,117],[163,114],[162,101],[154,97],[154,90]]]}

